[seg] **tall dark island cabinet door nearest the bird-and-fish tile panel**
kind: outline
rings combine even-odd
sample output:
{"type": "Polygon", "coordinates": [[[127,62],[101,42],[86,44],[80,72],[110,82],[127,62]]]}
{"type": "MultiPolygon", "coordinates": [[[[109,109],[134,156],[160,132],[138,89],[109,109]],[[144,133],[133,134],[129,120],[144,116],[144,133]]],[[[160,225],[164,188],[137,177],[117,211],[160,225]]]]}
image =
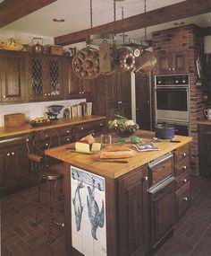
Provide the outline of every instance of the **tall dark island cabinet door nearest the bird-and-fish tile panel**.
{"type": "Polygon", "coordinates": [[[118,256],[148,252],[148,177],[145,166],[127,174],[117,184],[118,256]]]}

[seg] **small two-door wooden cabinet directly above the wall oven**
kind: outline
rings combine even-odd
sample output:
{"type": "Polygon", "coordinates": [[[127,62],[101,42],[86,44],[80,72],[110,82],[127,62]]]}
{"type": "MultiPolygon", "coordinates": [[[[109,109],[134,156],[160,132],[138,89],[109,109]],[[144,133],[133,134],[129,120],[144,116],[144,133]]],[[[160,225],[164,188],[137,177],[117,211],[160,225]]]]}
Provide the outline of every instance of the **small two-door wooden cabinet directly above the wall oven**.
{"type": "Polygon", "coordinates": [[[162,53],[156,56],[156,74],[183,74],[189,72],[188,51],[162,53]]]}

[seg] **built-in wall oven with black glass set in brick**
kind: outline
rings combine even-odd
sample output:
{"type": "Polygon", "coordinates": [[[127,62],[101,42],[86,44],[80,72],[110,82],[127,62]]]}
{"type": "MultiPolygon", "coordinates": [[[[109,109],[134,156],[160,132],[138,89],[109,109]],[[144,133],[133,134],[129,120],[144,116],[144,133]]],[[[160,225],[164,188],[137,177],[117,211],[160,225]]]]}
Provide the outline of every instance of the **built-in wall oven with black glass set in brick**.
{"type": "Polygon", "coordinates": [[[156,123],[173,124],[178,134],[189,135],[190,77],[155,76],[156,123]]]}

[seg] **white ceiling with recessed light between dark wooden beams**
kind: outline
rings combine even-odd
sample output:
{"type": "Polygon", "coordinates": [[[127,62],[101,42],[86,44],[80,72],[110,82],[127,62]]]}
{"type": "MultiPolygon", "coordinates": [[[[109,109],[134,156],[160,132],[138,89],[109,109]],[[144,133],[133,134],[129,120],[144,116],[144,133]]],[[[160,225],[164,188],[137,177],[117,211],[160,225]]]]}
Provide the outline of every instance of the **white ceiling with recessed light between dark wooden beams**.
{"type": "MultiPolygon", "coordinates": [[[[2,1],[0,0],[0,3],[2,1]]],[[[165,5],[183,2],[182,0],[147,0],[147,11],[151,11],[165,5]]],[[[113,0],[92,0],[93,4],[93,26],[114,21],[113,0]]],[[[124,18],[144,13],[144,0],[124,0],[116,2],[116,20],[122,19],[122,6],[124,18]]],[[[198,15],[184,19],[186,23],[195,23],[201,27],[211,25],[211,13],[198,15]]],[[[148,28],[151,31],[159,31],[173,27],[173,22],[161,24],[148,28]]],[[[74,31],[90,28],[89,0],[57,0],[53,4],[30,13],[20,20],[4,26],[1,31],[15,31],[37,34],[39,36],[56,37],[74,31]],[[63,18],[65,22],[53,22],[54,18],[63,18]]],[[[131,31],[129,37],[143,37],[144,30],[131,31]]],[[[148,35],[148,38],[150,36],[148,35]]]]}

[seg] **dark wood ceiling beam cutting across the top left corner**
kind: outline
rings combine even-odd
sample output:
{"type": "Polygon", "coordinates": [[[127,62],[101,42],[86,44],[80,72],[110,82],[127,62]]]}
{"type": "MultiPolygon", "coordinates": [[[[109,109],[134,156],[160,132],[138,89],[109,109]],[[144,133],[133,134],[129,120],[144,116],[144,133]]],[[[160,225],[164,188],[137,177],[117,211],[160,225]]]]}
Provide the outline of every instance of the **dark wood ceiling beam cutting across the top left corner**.
{"type": "Polygon", "coordinates": [[[0,4],[0,28],[57,0],[4,0],[0,4]]]}

